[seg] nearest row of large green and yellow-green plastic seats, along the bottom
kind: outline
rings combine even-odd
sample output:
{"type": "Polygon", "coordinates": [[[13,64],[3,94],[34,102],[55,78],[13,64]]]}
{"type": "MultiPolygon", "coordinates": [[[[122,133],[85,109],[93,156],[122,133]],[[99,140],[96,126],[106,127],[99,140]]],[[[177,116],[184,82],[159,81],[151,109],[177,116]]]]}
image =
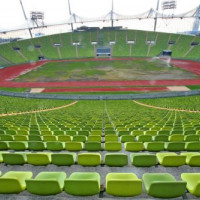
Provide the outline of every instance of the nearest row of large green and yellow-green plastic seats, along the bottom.
{"type": "MultiPolygon", "coordinates": [[[[63,190],[74,196],[91,196],[101,191],[101,176],[97,172],[40,172],[32,179],[30,171],[9,171],[0,177],[0,193],[20,193],[27,189],[31,194],[55,195],[63,190]]],[[[182,173],[177,181],[168,173],[145,173],[139,179],[134,173],[108,173],[105,191],[109,195],[131,197],[142,194],[142,184],[148,195],[157,198],[175,198],[186,189],[195,195],[199,192],[199,173],[182,173]]]]}

